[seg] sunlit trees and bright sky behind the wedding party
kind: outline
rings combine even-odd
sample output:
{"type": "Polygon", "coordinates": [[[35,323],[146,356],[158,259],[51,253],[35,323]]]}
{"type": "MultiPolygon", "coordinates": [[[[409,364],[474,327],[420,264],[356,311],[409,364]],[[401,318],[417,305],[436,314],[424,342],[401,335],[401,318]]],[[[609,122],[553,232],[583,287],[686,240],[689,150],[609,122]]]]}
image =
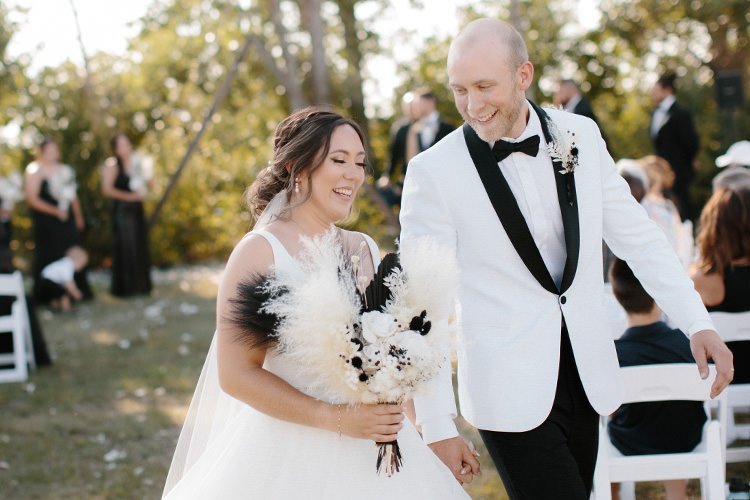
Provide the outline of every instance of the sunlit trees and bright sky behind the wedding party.
{"type": "MultiPolygon", "coordinates": [[[[249,51],[226,99],[154,220],[158,265],[226,257],[250,223],[241,194],[268,160],[275,124],[294,108],[330,105],[362,122],[375,176],[385,167],[390,127],[409,89],[432,87],[444,117],[458,125],[445,55],[459,27],[479,16],[508,19],[523,31],[536,67],[532,99],[550,103],[561,77],[581,83],[615,159],[652,152],[649,88],[661,72],[675,71],[678,98],[700,125],[696,206],[716,172],[713,159],[748,136],[747,105],[719,108],[715,88],[721,74],[739,73],[745,89],[750,80],[750,14],[741,0],[3,0],[0,6],[0,173],[21,171],[42,135],[58,139],[81,185],[94,266],[107,263],[98,166],[110,153],[110,136],[124,130],[155,158],[156,189],[147,201],[153,209],[247,38],[249,51]],[[316,27],[319,37],[311,35],[316,27]]],[[[375,190],[366,191],[355,224],[389,245],[396,219],[378,202],[375,190]]],[[[14,245],[23,257],[30,245],[23,208],[17,219],[14,245]]]]}

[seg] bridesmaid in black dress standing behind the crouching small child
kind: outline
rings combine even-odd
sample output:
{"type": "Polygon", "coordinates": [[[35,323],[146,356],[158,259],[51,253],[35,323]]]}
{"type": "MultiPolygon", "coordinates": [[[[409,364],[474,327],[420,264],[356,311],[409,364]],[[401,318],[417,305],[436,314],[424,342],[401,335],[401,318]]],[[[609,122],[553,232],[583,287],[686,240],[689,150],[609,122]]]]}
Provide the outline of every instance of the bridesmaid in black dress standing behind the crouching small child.
{"type": "MultiPolygon", "coordinates": [[[[68,248],[81,245],[85,228],[81,204],[76,194],[74,170],[59,163],[60,150],[54,140],[45,138],[36,161],[26,167],[26,203],[34,223],[34,297],[39,303],[40,273],[44,266],[65,256],[68,248]]],[[[76,284],[84,300],[93,298],[86,270],[77,272],[76,284]]]]}

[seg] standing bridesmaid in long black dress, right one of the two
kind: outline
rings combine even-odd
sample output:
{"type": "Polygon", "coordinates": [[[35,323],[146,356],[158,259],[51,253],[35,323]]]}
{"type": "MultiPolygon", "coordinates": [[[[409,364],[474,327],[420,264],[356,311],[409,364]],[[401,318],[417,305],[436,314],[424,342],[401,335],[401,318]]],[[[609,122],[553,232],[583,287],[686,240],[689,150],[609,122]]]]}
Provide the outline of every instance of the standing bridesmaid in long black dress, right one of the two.
{"type": "Polygon", "coordinates": [[[112,295],[151,292],[151,261],[143,198],[150,175],[125,134],[112,138],[114,157],[102,171],[102,194],[112,200],[112,295]]]}

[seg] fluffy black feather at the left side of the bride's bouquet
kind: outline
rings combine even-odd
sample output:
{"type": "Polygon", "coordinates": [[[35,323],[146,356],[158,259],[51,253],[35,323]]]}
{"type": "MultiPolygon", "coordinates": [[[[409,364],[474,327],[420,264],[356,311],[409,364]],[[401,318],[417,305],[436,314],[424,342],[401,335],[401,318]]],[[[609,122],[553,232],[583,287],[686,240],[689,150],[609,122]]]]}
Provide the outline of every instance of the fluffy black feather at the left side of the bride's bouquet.
{"type": "Polygon", "coordinates": [[[276,345],[276,328],[280,318],[263,311],[263,306],[286,290],[271,293],[268,278],[254,275],[237,285],[237,294],[229,299],[232,304],[225,321],[236,330],[236,339],[251,349],[269,348],[276,345]]]}

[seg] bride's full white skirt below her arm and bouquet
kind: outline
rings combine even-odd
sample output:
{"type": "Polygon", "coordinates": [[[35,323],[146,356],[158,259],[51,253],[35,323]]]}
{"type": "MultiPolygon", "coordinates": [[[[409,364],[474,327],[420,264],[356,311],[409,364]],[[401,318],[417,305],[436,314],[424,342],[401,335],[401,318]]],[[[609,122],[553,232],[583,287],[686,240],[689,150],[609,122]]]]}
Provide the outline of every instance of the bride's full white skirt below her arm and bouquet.
{"type": "Polygon", "coordinates": [[[339,437],[244,406],[165,498],[469,498],[411,422],[405,422],[398,442],[401,471],[378,476],[372,441],[339,437]]]}

